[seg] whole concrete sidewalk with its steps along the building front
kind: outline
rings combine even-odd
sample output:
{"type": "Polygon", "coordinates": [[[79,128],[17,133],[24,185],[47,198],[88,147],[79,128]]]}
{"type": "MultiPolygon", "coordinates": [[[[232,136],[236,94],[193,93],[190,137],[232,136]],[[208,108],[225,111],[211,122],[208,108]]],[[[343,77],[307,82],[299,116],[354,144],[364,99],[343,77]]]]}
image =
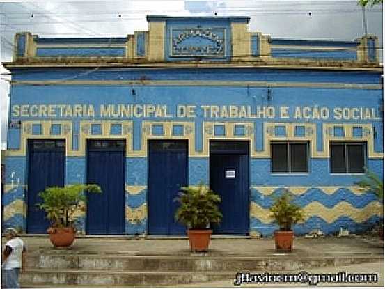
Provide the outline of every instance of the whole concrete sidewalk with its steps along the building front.
{"type": "Polygon", "coordinates": [[[25,288],[233,287],[237,272],[368,272],[384,280],[384,242],[375,235],[297,237],[291,253],[276,252],[272,238],[214,236],[206,253],[190,252],[187,238],[79,237],[71,249],[54,249],[48,236],[22,238],[25,288]]]}

